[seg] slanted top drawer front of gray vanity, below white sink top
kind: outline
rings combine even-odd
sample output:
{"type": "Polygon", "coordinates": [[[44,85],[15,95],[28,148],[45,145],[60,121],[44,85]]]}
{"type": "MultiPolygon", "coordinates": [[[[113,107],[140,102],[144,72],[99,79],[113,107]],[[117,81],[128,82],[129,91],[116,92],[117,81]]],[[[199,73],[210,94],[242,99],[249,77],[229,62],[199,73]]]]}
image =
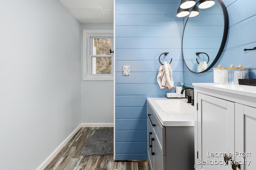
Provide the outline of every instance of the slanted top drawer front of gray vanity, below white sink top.
{"type": "Polygon", "coordinates": [[[156,142],[160,145],[162,154],[165,155],[165,127],[162,126],[149,104],[147,104],[147,113],[149,119],[148,123],[152,126],[156,142]]]}

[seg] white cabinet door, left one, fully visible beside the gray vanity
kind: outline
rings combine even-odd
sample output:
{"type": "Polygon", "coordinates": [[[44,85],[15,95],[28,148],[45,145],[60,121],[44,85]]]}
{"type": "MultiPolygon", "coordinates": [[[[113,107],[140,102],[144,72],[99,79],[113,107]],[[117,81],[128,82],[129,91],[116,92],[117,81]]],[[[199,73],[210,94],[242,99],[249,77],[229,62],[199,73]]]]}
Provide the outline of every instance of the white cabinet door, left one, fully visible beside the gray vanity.
{"type": "Polygon", "coordinates": [[[232,170],[223,153],[234,154],[234,102],[198,93],[198,169],[232,170]]]}

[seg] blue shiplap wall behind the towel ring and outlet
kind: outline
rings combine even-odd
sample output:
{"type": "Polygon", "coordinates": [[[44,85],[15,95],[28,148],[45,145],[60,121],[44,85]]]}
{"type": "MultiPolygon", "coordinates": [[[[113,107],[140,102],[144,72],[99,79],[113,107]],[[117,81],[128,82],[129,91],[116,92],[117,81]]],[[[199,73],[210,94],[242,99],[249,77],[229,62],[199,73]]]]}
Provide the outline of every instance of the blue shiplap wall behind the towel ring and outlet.
{"type": "MultiPolygon", "coordinates": [[[[165,97],[156,76],[161,61],[170,61],[175,85],[183,82],[183,20],[180,0],[116,0],[116,160],[147,159],[146,98],[165,97]],[[130,76],[122,66],[130,65],[130,76]]],[[[174,91],[173,91],[174,92],[174,91]]]]}

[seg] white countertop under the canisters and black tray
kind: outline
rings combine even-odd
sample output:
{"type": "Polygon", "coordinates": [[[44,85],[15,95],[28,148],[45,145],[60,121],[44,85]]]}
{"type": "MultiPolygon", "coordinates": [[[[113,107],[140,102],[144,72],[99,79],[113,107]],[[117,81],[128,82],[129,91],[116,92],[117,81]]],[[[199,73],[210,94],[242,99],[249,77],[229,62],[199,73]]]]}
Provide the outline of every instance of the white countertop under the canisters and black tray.
{"type": "Polygon", "coordinates": [[[192,83],[194,87],[208,88],[220,92],[228,92],[248,97],[256,97],[256,86],[240,84],[192,83]]]}

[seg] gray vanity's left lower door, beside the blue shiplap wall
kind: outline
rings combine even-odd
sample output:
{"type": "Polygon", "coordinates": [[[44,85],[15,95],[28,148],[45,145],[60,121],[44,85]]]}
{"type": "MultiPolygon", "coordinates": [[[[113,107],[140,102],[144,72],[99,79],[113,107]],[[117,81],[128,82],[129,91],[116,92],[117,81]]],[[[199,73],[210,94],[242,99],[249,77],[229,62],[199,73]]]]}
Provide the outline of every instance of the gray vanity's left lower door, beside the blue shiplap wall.
{"type": "Polygon", "coordinates": [[[147,140],[147,148],[148,148],[148,164],[150,166],[150,170],[154,170],[154,155],[152,154],[153,149],[152,149],[152,139],[154,138],[154,133],[153,133],[153,129],[152,129],[152,125],[150,123],[150,120],[148,119],[147,121],[148,124],[148,140],[147,140]]]}

